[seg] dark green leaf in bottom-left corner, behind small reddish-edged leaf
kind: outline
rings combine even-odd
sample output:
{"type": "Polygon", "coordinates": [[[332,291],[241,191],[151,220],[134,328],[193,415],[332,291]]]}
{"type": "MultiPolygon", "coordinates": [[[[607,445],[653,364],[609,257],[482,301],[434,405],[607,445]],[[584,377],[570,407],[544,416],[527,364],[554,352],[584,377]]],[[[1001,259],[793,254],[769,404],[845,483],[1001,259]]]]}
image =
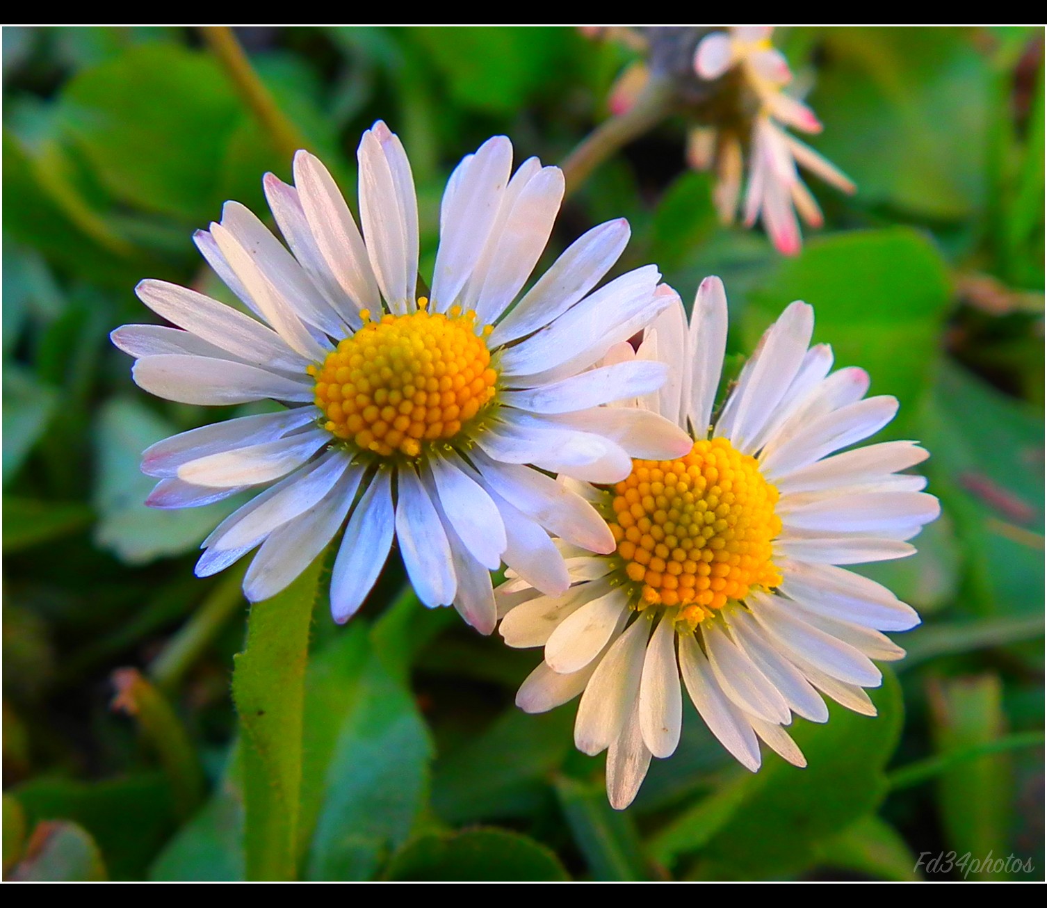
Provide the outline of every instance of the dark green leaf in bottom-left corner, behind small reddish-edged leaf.
{"type": "Polygon", "coordinates": [[[29,825],[72,820],[98,843],[114,880],[141,880],[175,826],[171,788],[160,773],[101,782],[40,777],[12,792],[29,825]]]}

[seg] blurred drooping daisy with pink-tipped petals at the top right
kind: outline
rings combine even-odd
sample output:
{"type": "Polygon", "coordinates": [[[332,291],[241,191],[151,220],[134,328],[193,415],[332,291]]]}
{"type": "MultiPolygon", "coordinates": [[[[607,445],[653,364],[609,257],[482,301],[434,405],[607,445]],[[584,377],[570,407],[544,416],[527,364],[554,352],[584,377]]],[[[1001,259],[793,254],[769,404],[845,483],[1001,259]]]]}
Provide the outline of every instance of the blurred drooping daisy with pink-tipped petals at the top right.
{"type": "Polygon", "coordinates": [[[688,147],[691,165],[715,168],[714,199],[720,218],[731,223],[741,193],[743,148],[749,146],[749,185],[743,205],[747,226],[763,222],[775,247],[785,254],[800,251],[796,213],[811,226],[822,225],[822,212],[797,172],[806,168],[826,182],[854,192],[854,184],[812,148],[786,132],[787,127],[818,133],[822,124],[807,105],[788,95],[793,81],[785,58],[771,45],[771,26],[740,26],[714,31],[698,43],[694,71],[704,80],[728,76],[744,115],[748,135],[735,125],[699,127],[688,147]],[[731,76],[735,76],[731,79],[731,76]]]}

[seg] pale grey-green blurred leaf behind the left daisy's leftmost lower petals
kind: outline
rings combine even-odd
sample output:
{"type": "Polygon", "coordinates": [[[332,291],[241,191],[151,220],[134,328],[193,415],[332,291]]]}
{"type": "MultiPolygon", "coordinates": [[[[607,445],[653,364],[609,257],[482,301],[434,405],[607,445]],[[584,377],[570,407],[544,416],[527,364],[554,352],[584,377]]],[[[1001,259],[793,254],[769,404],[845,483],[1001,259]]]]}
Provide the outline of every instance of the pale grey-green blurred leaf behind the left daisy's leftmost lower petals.
{"type": "Polygon", "coordinates": [[[143,403],[115,398],[99,408],[94,430],[97,452],[95,541],[131,564],[195,549],[239,504],[226,499],[202,508],[148,508],[156,480],[138,468],[141,452],[174,435],[175,427],[143,403]]]}

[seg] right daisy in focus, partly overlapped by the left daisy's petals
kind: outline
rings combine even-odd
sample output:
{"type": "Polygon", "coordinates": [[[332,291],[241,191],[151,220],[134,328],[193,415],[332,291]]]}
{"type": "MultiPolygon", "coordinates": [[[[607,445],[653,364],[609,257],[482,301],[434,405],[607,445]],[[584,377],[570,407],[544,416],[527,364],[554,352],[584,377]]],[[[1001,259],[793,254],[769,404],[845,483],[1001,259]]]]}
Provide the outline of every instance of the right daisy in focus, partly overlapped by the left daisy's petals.
{"type": "MultiPolygon", "coordinates": [[[[727,338],[719,280],[703,282],[690,327],[677,303],[633,354],[662,359],[661,391],[625,406],[661,413],[693,439],[676,459],[638,459],[617,484],[565,482],[604,515],[610,555],[560,541],[573,585],[560,595],[526,578],[496,591],[510,646],[544,646],[517,704],[542,712],[581,694],[575,744],[607,751],[607,794],[627,806],[651,756],[680,740],[683,686],[713,734],[748,769],[759,739],[797,766],[793,713],[825,722],[822,694],[872,715],[863,688],[873,660],[904,651],[882,630],[916,613],[841,566],[900,558],[938,514],[926,480],[900,472],[927,457],[910,441],[850,448],[894,417],[893,397],[865,394],[861,369],[830,372],[809,347],[814,313],[794,303],[764,334],[718,414],[727,338]],[[842,452],[839,452],[842,451],[842,452]]],[[[618,407],[621,408],[621,407],[618,407]]]]}

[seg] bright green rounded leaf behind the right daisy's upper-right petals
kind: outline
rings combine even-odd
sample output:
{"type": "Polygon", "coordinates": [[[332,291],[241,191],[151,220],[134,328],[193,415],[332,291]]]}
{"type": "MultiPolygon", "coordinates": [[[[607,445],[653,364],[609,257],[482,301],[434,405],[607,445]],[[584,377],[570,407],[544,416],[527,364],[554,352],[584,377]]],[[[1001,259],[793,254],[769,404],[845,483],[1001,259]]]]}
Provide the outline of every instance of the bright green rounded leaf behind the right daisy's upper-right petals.
{"type": "Polygon", "coordinates": [[[782,260],[745,308],[752,350],[794,300],[815,307],[815,340],[830,344],[837,366],[861,366],[871,394],[892,394],[901,411],[894,437],[932,376],[950,305],[944,263],[928,239],[908,227],[855,230],[812,239],[782,260]]]}

